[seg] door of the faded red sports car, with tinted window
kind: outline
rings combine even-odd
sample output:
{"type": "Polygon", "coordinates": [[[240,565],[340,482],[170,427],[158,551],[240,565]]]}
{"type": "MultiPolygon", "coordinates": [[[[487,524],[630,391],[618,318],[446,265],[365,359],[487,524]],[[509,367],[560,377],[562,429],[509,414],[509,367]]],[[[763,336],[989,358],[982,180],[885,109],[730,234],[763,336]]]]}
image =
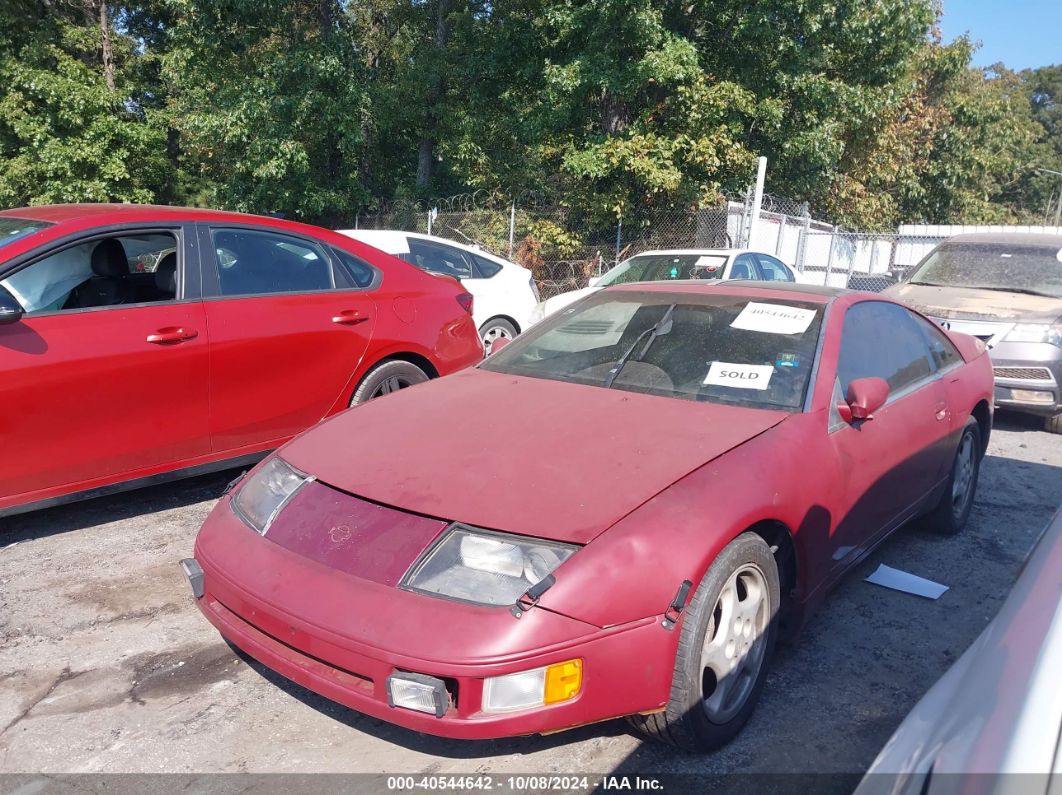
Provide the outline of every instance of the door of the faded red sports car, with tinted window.
{"type": "Polygon", "coordinates": [[[829,443],[843,482],[835,517],[835,567],[858,559],[909,519],[946,473],[950,412],[921,329],[903,307],[861,301],[843,318],[833,404],[857,378],[883,378],[889,399],[873,419],[847,424],[833,411],[829,443]]]}

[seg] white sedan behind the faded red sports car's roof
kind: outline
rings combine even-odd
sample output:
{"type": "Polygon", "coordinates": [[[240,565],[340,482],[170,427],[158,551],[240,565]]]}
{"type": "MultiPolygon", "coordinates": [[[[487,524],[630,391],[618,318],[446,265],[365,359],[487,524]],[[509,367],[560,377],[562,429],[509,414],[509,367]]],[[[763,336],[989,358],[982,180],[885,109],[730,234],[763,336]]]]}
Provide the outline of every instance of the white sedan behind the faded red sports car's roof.
{"type": "Polygon", "coordinates": [[[795,281],[792,270],[777,257],[749,248],[668,248],[643,252],[626,259],[589,287],[554,295],[535,307],[532,323],[538,323],[569,304],[611,284],[671,279],[757,279],[795,281]]]}

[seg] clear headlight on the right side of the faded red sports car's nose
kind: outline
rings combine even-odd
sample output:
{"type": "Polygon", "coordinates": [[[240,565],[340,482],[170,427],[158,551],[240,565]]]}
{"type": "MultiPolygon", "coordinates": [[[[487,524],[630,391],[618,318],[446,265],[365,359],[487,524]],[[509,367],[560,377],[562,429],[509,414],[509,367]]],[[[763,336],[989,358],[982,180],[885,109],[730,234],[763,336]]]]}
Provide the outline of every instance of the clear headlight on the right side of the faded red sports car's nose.
{"type": "Polygon", "coordinates": [[[476,604],[511,605],[575,551],[563,543],[453,524],[402,586],[476,604]]]}

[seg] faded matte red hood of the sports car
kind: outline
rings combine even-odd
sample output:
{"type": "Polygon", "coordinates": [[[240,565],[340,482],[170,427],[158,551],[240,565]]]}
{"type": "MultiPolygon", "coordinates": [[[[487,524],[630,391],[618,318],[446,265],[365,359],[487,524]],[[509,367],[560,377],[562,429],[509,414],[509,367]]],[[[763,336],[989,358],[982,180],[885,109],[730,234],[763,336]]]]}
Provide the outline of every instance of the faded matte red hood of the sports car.
{"type": "Polygon", "coordinates": [[[280,455],[375,502],[585,543],[786,416],[468,369],[340,414],[280,455]]]}

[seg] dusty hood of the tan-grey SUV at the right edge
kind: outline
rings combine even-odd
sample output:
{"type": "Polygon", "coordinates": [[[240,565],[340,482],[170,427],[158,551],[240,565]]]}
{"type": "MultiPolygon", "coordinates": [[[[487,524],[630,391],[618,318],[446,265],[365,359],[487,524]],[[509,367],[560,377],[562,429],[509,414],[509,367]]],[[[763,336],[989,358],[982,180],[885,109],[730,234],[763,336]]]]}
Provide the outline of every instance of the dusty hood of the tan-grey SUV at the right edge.
{"type": "Polygon", "coordinates": [[[1052,323],[1062,315],[1062,298],[998,290],[901,283],[886,295],[933,317],[1052,323]]]}

